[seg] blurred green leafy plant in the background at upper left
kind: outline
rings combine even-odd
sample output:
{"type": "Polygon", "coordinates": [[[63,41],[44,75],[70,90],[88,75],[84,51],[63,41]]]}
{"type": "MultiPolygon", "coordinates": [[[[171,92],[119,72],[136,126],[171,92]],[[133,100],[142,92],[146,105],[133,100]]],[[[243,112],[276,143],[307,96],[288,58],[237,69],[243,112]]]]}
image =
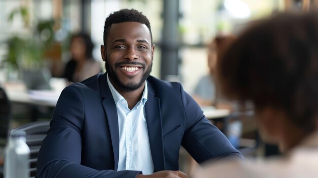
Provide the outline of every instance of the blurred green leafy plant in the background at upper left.
{"type": "Polygon", "coordinates": [[[26,7],[12,11],[9,21],[12,21],[15,15],[21,15],[24,25],[32,30],[29,35],[15,34],[7,41],[8,53],[4,62],[11,70],[18,71],[22,80],[25,76],[36,76],[42,70],[45,70],[44,73],[48,73],[43,58],[47,49],[54,42],[54,21],[39,21],[31,27],[26,7]]]}

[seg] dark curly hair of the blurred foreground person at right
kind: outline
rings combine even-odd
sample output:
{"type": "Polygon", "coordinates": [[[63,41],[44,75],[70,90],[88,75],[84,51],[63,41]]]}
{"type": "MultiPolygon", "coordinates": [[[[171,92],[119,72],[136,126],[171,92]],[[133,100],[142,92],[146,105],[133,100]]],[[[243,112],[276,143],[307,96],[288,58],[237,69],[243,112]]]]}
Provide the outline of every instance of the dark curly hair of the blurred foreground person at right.
{"type": "Polygon", "coordinates": [[[217,63],[221,91],[272,106],[311,132],[318,116],[318,14],[279,14],[256,22],[217,63]]]}

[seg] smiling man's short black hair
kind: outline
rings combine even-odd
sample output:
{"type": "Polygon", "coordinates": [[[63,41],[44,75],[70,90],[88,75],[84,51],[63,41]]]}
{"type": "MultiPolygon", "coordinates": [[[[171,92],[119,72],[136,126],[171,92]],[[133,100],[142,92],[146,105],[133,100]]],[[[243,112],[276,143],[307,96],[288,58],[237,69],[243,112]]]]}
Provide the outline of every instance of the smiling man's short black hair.
{"type": "Polygon", "coordinates": [[[145,24],[149,31],[151,37],[151,44],[152,44],[152,33],[150,22],[145,15],[135,9],[121,9],[119,11],[113,12],[110,14],[106,20],[104,25],[104,45],[107,44],[108,33],[110,27],[114,23],[122,23],[122,22],[139,22],[145,24]]]}

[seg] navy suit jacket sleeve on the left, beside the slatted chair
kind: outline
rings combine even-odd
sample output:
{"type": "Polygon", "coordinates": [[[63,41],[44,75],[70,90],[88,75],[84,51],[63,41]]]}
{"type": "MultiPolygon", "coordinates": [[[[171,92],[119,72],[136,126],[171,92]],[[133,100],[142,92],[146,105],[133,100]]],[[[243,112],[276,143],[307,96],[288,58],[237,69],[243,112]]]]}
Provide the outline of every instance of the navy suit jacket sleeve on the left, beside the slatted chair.
{"type": "Polygon", "coordinates": [[[37,177],[136,177],[140,171],[96,170],[81,165],[83,107],[78,90],[69,86],[62,91],[39,152],[37,177]]]}

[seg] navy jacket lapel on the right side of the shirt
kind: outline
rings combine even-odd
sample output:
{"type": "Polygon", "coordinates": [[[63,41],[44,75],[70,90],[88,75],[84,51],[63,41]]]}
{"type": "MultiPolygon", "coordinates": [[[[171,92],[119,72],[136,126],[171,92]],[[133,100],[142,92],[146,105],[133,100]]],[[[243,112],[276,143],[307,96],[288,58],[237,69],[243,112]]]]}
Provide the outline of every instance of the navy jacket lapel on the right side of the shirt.
{"type": "Polygon", "coordinates": [[[145,110],[154,172],[165,170],[166,165],[163,146],[160,99],[154,96],[154,92],[149,85],[149,82],[148,100],[145,104],[145,110]]]}

